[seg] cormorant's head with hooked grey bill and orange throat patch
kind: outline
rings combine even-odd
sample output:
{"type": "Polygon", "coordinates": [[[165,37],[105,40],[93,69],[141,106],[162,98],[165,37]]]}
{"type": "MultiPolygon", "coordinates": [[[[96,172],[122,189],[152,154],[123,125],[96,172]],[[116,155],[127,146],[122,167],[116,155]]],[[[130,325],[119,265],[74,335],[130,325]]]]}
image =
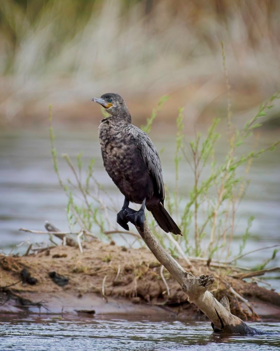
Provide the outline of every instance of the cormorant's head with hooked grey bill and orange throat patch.
{"type": "Polygon", "coordinates": [[[92,101],[100,104],[106,112],[116,117],[130,117],[130,113],[124,99],[115,93],[103,94],[100,98],[92,98],[92,101]]]}

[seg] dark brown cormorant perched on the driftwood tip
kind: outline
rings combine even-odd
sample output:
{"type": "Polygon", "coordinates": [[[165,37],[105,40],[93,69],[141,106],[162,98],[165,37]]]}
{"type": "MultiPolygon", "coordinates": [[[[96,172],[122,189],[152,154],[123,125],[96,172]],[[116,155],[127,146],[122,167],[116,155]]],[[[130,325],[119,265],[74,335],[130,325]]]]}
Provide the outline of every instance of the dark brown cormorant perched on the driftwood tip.
{"type": "Polygon", "coordinates": [[[125,200],[117,214],[117,223],[128,228],[128,219],[144,230],[145,205],[156,222],[167,233],[181,234],[169,213],[163,207],[163,186],[159,154],[148,135],[131,124],[131,115],[124,99],[115,93],[106,93],[92,101],[102,105],[111,117],[100,122],[98,132],[104,167],[125,200]],[[141,204],[139,211],[129,203],[141,204]]]}

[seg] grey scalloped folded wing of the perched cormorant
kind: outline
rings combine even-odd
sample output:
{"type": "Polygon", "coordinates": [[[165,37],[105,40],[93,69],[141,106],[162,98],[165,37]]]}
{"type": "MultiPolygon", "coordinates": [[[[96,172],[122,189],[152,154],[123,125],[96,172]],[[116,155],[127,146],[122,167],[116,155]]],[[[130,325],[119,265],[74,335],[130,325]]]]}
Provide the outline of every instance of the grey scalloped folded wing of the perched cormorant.
{"type": "Polygon", "coordinates": [[[145,132],[132,124],[128,126],[128,133],[133,139],[135,146],[138,148],[142,159],[145,161],[148,167],[153,182],[158,188],[160,198],[164,200],[165,191],[158,151],[152,143],[152,140],[145,132]]]}

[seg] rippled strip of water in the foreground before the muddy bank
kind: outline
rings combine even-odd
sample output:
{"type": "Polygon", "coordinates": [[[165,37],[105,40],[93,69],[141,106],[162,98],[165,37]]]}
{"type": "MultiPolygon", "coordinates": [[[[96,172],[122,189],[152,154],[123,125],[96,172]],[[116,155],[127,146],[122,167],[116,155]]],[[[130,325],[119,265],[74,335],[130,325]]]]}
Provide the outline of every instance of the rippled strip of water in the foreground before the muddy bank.
{"type": "MultiPolygon", "coordinates": [[[[250,323],[250,326],[256,326],[250,323]]],[[[258,323],[271,334],[213,334],[210,323],[137,318],[59,319],[10,316],[0,321],[0,350],[280,350],[279,324],[258,323]]]]}

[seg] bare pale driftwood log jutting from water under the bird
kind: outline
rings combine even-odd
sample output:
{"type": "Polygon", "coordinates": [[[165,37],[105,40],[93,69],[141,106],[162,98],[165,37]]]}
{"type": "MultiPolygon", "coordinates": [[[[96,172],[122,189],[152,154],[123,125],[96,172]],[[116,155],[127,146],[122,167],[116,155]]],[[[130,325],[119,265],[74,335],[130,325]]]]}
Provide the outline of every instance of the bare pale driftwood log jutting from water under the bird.
{"type": "Polygon", "coordinates": [[[213,276],[200,275],[195,277],[192,273],[186,272],[163,249],[159,241],[151,233],[146,221],[143,232],[140,230],[140,227],[135,227],[155,257],[181,285],[183,292],[187,294],[188,302],[194,303],[211,320],[214,332],[242,335],[263,334],[262,331],[248,326],[243,320],[231,314],[229,300],[226,296],[218,302],[212,293],[208,291],[210,285],[214,283],[215,278],[213,276]]]}

